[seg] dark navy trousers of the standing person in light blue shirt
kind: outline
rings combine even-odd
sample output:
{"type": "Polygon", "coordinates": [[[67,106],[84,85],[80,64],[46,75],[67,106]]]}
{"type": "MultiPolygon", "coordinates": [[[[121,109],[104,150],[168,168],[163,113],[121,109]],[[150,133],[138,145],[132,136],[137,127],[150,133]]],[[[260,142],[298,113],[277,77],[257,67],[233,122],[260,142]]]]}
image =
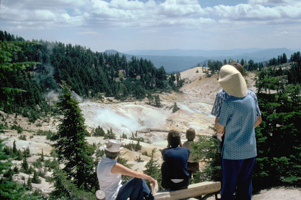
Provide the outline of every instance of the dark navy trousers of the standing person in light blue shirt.
{"type": "Polygon", "coordinates": [[[252,198],[252,175],[255,157],[248,159],[223,159],[223,183],[221,200],[232,200],[236,188],[238,200],[252,198]]]}

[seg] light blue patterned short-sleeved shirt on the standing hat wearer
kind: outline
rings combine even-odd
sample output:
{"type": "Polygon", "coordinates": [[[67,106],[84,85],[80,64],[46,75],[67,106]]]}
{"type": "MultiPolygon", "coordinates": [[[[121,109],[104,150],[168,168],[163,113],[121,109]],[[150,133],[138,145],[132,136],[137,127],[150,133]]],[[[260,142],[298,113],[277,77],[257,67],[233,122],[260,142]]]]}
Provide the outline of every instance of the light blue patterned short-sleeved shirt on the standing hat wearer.
{"type": "Polygon", "coordinates": [[[257,155],[256,120],[256,102],[250,94],[245,97],[230,95],[222,103],[218,123],[225,126],[224,159],[247,159],[257,155]]]}

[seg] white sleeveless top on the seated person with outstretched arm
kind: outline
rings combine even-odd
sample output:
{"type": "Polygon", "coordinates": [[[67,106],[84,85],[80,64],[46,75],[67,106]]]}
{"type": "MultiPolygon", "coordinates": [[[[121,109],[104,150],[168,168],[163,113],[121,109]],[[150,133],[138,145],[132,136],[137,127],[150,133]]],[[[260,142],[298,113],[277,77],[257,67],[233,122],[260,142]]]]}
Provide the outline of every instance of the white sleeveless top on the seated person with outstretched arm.
{"type": "Polygon", "coordinates": [[[117,197],[121,184],[121,174],[111,173],[112,166],[117,163],[117,160],[104,157],[98,162],[96,167],[99,189],[104,191],[106,200],[114,200],[117,197]]]}

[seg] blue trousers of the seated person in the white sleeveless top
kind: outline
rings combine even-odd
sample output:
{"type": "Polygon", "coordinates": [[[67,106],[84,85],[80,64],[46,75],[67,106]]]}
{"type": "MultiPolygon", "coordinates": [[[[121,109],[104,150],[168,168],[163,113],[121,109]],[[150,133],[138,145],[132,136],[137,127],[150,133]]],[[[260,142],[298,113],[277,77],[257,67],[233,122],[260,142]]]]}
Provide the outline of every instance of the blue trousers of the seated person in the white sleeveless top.
{"type": "Polygon", "coordinates": [[[126,183],[124,183],[117,194],[116,200],[126,200],[129,197],[130,200],[142,200],[155,199],[145,182],[144,179],[132,177],[126,183]]]}

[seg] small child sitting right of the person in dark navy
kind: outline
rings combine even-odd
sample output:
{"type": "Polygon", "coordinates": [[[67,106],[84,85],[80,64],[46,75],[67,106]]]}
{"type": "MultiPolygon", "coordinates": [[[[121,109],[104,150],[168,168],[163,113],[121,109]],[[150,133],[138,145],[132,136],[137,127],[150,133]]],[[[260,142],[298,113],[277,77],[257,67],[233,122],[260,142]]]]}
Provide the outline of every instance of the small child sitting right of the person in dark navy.
{"type": "MultiPolygon", "coordinates": [[[[189,150],[192,149],[191,142],[193,142],[194,138],[196,137],[196,131],[193,128],[189,128],[186,130],[186,138],[187,141],[184,142],[183,147],[188,148],[189,150]]],[[[187,170],[189,172],[189,177],[191,179],[191,175],[194,172],[199,171],[199,162],[194,161],[194,156],[190,152],[188,157],[188,163],[187,163],[187,170]]]]}

